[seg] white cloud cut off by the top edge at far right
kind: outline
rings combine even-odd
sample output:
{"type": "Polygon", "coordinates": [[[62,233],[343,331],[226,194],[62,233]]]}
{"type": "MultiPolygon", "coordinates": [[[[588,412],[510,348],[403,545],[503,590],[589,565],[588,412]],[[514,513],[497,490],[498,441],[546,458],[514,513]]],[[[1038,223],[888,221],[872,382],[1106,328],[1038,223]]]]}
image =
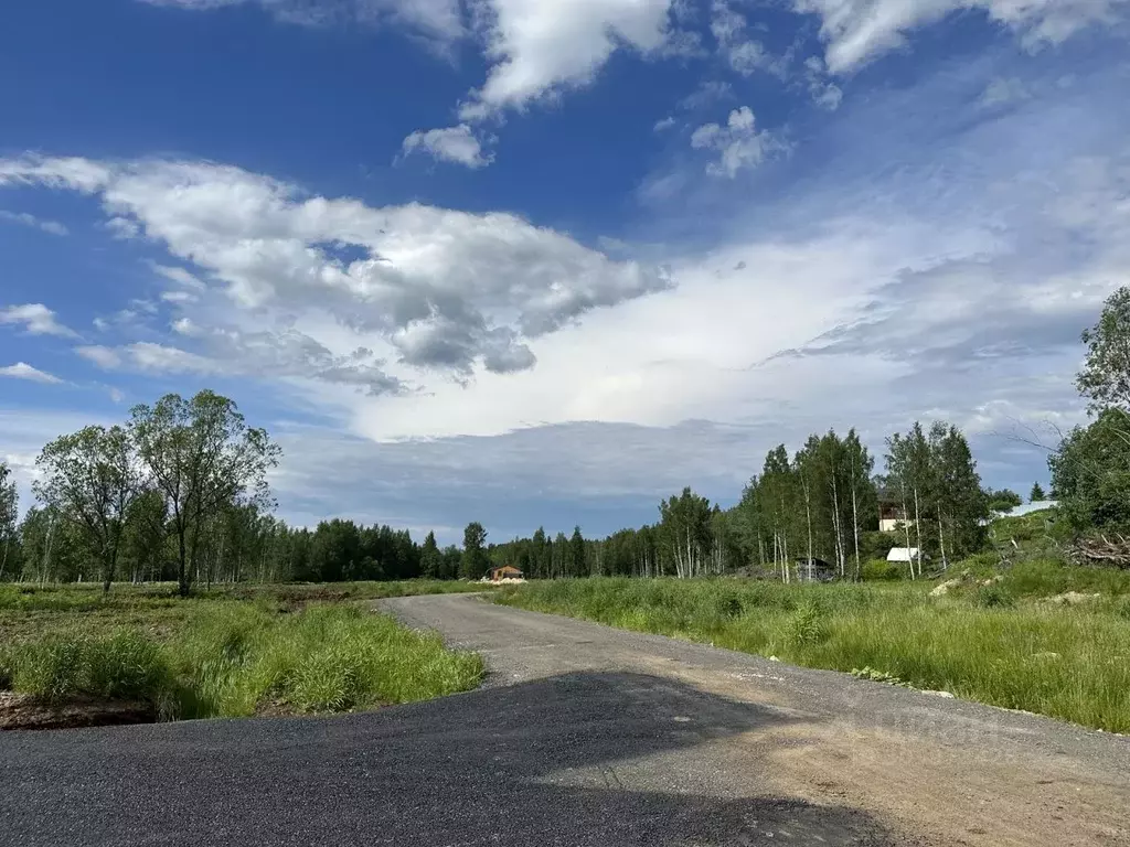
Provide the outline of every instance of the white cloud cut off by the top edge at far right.
{"type": "Polygon", "coordinates": [[[976,9],[1016,30],[1028,49],[1058,44],[1095,24],[1123,19],[1130,0],[792,0],[798,12],[820,16],[833,73],[850,73],[905,46],[916,28],[976,9]]]}

